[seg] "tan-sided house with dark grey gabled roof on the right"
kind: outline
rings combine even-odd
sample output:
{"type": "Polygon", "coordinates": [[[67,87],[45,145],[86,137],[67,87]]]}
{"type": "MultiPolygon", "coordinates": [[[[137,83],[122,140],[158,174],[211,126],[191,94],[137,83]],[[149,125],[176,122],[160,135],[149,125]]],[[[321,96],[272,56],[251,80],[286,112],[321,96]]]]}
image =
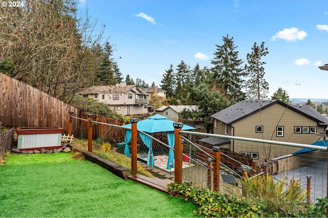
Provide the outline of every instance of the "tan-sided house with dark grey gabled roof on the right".
{"type": "MultiPolygon", "coordinates": [[[[241,101],[213,114],[214,134],[312,144],[328,119],[310,105],[287,105],[278,100],[241,101]]],[[[223,148],[248,154],[258,162],[292,154],[300,148],[231,140],[223,148]]]]}

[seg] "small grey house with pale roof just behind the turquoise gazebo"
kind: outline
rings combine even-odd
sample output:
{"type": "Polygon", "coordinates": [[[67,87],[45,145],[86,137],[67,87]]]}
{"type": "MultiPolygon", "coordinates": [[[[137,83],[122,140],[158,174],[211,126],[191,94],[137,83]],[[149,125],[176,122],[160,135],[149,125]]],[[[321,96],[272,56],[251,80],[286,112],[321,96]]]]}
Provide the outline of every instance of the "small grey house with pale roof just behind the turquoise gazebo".
{"type": "Polygon", "coordinates": [[[186,110],[198,110],[196,105],[170,105],[170,106],[161,106],[156,109],[155,112],[160,115],[166,116],[169,119],[175,122],[181,122],[181,111],[186,110]]]}

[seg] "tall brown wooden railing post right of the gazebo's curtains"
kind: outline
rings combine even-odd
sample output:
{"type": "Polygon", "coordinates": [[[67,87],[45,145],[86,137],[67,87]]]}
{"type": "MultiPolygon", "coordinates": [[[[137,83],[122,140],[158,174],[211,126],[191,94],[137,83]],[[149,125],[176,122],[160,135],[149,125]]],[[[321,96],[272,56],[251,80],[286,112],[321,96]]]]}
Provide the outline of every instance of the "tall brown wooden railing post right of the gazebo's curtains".
{"type": "Polygon", "coordinates": [[[179,133],[183,127],[182,123],[174,122],[174,182],[182,184],[182,137],[179,133]]]}

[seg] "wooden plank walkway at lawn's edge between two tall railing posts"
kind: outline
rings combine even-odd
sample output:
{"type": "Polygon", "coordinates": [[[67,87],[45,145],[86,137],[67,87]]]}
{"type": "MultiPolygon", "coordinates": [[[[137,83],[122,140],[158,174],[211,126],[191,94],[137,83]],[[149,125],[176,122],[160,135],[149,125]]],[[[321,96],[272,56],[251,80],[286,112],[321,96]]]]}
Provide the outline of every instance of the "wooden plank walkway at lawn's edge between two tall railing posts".
{"type": "Polygon", "coordinates": [[[152,188],[156,188],[157,190],[168,192],[166,187],[168,184],[172,183],[173,181],[170,179],[159,179],[157,177],[146,177],[142,176],[140,174],[137,174],[136,176],[129,175],[129,179],[132,179],[136,182],[139,182],[141,184],[147,185],[152,188]]]}

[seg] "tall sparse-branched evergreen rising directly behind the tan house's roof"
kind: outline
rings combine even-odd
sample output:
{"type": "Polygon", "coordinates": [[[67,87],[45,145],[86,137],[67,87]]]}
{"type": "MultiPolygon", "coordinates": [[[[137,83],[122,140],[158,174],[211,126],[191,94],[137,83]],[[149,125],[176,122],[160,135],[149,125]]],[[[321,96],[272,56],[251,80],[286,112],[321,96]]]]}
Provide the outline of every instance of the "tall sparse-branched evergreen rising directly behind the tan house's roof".
{"type": "Polygon", "coordinates": [[[264,47],[264,42],[260,46],[254,43],[252,53],[247,54],[245,64],[245,73],[248,81],[245,83],[246,94],[248,99],[266,99],[269,92],[269,83],[264,79],[264,61],[261,58],[268,55],[268,47],[264,47]]]}

